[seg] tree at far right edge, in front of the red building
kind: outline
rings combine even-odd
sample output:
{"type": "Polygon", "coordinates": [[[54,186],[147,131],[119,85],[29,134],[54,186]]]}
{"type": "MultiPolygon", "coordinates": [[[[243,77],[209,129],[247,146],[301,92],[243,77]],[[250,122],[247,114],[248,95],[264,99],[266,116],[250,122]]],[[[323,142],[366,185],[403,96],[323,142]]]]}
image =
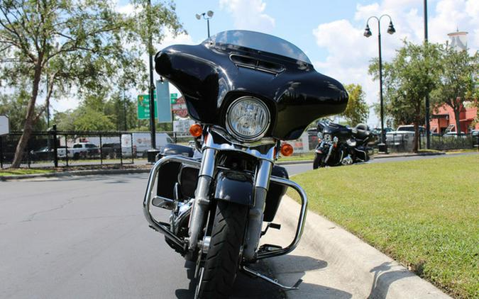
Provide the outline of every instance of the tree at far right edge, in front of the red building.
{"type": "Polygon", "coordinates": [[[464,103],[473,99],[478,89],[479,53],[441,47],[441,68],[436,89],[431,93],[436,108],[446,104],[454,111],[456,132],[461,132],[459,113],[464,103]]]}

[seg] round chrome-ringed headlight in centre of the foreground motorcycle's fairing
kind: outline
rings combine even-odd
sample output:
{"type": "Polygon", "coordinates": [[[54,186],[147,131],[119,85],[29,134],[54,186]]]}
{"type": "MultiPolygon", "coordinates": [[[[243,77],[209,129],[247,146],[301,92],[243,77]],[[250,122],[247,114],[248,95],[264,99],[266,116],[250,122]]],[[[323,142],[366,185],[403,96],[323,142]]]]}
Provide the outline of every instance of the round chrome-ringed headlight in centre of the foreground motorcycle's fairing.
{"type": "Polygon", "coordinates": [[[237,98],[226,112],[226,129],[242,141],[259,140],[270,126],[270,111],[258,98],[237,98]]]}

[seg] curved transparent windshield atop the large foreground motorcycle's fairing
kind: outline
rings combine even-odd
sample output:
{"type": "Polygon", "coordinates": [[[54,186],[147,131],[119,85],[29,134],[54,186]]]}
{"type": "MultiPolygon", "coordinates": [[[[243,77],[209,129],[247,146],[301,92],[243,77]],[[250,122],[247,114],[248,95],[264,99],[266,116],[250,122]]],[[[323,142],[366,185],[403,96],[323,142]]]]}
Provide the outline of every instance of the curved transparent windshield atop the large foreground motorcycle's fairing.
{"type": "Polygon", "coordinates": [[[270,52],[276,55],[282,55],[311,64],[309,58],[296,47],[286,40],[275,36],[248,30],[229,30],[211,36],[205,42],[216,44],[227,44],[240,47],[248,47],[254,50],[270,52]]]}

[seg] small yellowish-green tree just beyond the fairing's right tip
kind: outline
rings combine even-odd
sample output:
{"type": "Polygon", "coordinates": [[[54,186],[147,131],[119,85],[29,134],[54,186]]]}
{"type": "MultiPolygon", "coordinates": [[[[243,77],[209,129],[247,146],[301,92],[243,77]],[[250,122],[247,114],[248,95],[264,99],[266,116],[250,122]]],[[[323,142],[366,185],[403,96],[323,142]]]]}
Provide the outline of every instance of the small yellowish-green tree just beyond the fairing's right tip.
{"type": "Polygon", "coordinates": [[[349,101],[341,116],[346,118],[349,125],[365,123],[368,120],[369,107],[365,101],[363,87],[360,84],[348,84],[345,87],[348,91],[349,101]]]}

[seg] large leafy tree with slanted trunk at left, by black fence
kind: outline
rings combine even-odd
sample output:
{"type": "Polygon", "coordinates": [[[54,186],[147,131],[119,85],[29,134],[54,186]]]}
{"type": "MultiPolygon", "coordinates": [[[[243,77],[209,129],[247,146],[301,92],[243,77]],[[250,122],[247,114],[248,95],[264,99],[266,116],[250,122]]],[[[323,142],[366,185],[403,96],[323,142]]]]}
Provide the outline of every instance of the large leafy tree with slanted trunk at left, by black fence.
{"type": "MultiPolygon", "coordinates": [[[[0,1],[0,85],[29,86],[13,168],[20,165],[33,125],[52,94],[99,91],[116,84],[118,77],[128,77],[125,81],[134,85],[140,80],[138,74],[145,73],[140,49],[125,43],[138,36],[140,22],[117,13],[115,4],[112,0],[0,1]],[[46,90],[42,86],[47,86],[46,90]],[[35,111],[41,95],[45,105],[35,111]]],[[[169,18],[148,18],[146,26],[157,28],[161,39],[164,26],[173,30],[181,26],[174,6],[158,6],[169,18]]]]}

